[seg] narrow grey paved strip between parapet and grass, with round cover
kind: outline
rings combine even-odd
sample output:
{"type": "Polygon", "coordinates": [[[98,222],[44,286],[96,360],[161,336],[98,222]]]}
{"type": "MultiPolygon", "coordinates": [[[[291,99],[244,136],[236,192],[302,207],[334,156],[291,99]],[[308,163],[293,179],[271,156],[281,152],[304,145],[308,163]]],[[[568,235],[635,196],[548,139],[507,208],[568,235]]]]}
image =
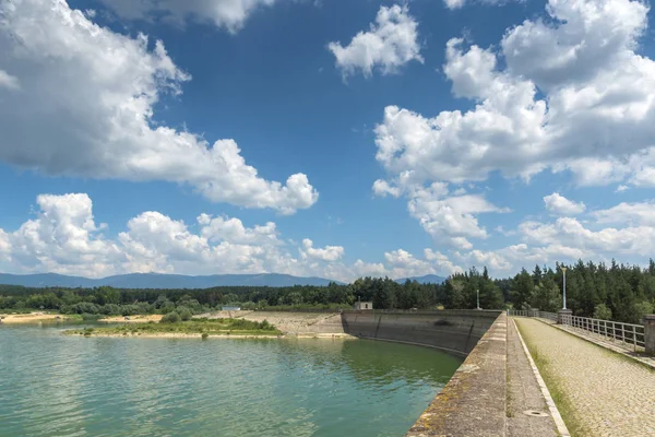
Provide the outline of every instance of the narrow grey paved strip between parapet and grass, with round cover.
{"type": "Polygon", "coordinates": [[[555,422],[511,320],[508,322],[507,408],[508,437],[557,436],[555,422]],[[546,415],[529,415],[526,411],[537,411],[546,415]]]}

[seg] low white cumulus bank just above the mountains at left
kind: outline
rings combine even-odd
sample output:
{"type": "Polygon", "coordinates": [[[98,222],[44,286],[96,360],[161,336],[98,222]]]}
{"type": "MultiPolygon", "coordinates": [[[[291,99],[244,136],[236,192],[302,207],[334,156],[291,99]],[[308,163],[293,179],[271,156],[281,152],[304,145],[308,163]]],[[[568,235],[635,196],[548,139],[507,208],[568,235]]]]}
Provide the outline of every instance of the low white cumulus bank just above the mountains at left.
{"type": "Polygon", "coordinates": [[[384,262],[348,264],[342,246],[315,248],[309,238],[299,247],[288,245],[273,222],[248,227],[237,217],[206,213],[191,227],[160,212],[144,211],[130,218],[116,238],[107,238],[85,193],[41,194],[36,203],[36,217],[13,232],[0,228],[0,271],[93,277],[275,272],[353,281],[361,275],[405,277],[460,270],[431,249],[424,251],[425,259],[398,249],[385,252],[384,262]],[[295,248],[300,257],[293,255],[295,248]]]}

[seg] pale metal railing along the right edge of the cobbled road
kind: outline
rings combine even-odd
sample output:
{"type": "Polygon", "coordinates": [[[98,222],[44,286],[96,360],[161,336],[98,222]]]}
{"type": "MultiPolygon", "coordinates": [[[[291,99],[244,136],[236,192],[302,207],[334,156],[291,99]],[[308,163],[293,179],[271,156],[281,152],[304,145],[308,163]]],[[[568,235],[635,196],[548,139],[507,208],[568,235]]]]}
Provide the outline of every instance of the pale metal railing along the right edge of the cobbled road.
{"type": "MultiPolygon", "coordinates": [[[[519,317],[538,317],[558,321],[558,315],[538,310],[515,310],[508,309],[508,316],[519,317]]],[[[645,329],[643,324],[622,323],[620,321],[593,319],[590,317],[577,317],[572,315],[560,315],[561,323],[571,328],[592,332],[604,336],[606,340],[620,342],[630,346],[635,352],[638,347],[645,347],[645,329]]]]}

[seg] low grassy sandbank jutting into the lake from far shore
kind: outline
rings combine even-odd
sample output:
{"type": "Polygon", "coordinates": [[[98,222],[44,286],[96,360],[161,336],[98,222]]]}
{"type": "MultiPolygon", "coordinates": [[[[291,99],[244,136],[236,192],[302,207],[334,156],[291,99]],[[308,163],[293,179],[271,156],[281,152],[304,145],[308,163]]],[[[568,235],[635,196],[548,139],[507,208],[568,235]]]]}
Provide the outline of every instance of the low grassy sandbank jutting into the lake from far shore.
{"type": "Polygon", "coordinates": [[[257,322],[243,319],[192,319],[177,323],[126,323],[102,328],[73,329],[63,332],[68,335],[144,335],[201,334],[211,335],[281,335],[267,321],[257,322]]]}

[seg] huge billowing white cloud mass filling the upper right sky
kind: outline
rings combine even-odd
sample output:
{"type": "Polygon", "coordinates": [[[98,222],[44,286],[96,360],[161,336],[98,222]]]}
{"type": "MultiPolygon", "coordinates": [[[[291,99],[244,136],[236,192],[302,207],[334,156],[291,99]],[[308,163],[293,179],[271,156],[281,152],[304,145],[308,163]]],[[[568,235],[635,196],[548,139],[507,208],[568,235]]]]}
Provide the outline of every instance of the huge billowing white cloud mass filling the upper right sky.
{"type": "Polygon", "coordinates": [[[580,185],[655,184],[655,62],[634,52],[647,7],[551,0],[546,11],[547,20],[509,28],[500,52],[446,44],[443,71],[453,94],[473,101],[469,110],[426,117],[385,108],[377,160],[392,176],[460,184],[499,172],[529,180],[549,168],[580,185]]]}

